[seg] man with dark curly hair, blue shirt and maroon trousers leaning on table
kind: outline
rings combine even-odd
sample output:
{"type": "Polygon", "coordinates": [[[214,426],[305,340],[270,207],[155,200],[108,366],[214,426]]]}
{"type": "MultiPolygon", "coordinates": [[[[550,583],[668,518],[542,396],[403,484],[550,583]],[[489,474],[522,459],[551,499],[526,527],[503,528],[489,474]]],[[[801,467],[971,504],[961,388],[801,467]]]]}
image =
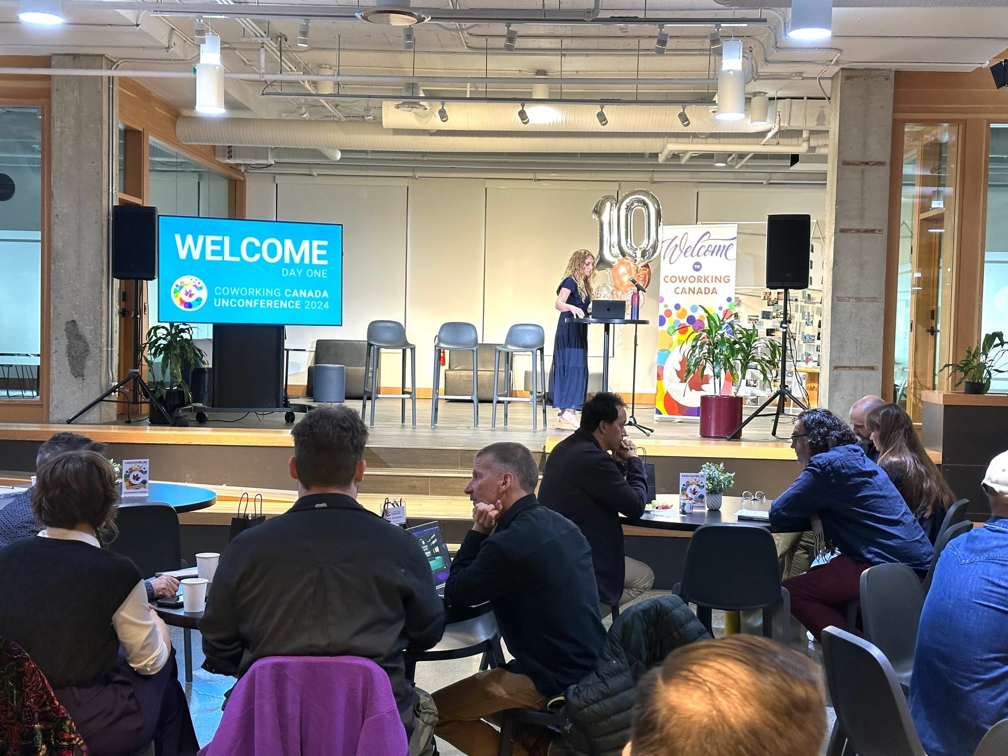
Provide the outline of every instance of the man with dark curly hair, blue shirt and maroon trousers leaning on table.
{"type": "Polygon", "coordinates": [[[933,548],[892,481],[858,446],[854,431],[828,409],[798,415],[791,447],[804,467],[773,502],[770,524],[809,530],[817,516],[840,555],[783,582],[791,614],[815,640],[825,627],[844,627],[845,607],[861,593],[861,574],[896,561],[923,578],[933,548]]]}

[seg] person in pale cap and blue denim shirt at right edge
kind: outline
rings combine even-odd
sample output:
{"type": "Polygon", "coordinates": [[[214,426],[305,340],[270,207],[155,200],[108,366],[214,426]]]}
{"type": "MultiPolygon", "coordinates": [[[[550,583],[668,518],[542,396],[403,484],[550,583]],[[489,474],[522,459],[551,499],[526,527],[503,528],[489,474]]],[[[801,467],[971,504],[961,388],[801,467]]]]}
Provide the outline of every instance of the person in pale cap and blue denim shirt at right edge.
{"type": "Polygon", "coordinates": [[[1008,718],[1008,452],[983,487],[991,518],[941,551],[920,615],[910,714],[928,756],[969,756],[1008,718]]]}

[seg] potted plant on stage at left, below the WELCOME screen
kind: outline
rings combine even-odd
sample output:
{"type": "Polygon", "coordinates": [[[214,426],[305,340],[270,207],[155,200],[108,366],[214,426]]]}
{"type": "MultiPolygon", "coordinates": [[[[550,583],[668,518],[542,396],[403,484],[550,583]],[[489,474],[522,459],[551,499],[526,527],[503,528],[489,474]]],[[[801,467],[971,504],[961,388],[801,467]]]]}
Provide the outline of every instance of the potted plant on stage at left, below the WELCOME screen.
{"type": "Polygon", "coordinates": [[[186,371],[203,364],[205,354],[193,343],[193,327],[185,323],[151,326],[140,348],[151,378],[149,385],[154,398],[167,411],[167,417],[151,411],[150,421],[159,425],[171,424],[174,411],[187,404],[192,397],[183,376],[186,371]],[[155,363],[159,365],[155,367],[155,363]]]}

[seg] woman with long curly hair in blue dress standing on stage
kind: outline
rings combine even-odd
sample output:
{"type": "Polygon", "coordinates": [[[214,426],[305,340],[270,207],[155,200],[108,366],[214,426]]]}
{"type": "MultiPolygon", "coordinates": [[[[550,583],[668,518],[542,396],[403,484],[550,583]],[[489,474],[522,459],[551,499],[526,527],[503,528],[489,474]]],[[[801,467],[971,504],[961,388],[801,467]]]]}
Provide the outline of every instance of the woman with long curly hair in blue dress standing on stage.
{"type": "Polygon", "coordinates": [[[560,311],[553,340],[553,369],[549,374],[550,403],[558,411],[556,427],[576,428],[576,411],[588,393],[588,316],[595,279],[595,254],[579,249],[568,261],[563,280],[556,287],[555,307],[560,311]]]}

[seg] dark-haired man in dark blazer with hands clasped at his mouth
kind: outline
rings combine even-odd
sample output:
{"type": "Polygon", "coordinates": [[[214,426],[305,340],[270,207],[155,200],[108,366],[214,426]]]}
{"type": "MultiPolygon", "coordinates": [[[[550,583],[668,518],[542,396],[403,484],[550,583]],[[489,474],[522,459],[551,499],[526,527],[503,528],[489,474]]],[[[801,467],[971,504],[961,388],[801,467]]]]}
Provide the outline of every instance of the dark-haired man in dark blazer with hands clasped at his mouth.
{"type": "Polygon", "coordinates": [[[626,437],[626,421],[619,396],[597,393],[581,410],[581,427],[549,453],[539,484],[539,503],[574,522],[588,538],[599,601],[607,612],[654,583],[651,568],[623,552],[620,514],[640,517],[647,506],[644,465],[626,437]]]}

